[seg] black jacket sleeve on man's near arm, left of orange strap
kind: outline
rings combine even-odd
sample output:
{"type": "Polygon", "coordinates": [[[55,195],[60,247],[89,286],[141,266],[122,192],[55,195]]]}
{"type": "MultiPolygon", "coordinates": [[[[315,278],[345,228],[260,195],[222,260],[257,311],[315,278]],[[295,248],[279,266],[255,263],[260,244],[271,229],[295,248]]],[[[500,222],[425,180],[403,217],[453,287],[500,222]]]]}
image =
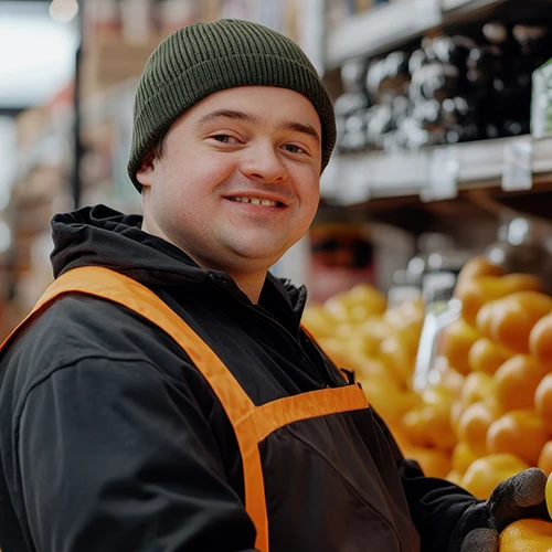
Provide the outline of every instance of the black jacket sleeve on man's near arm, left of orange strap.
{"type": "Polygon", "coordinates": [[[26,396],[17,450],[38,552],[254,550],[200,406],[147,362],[50,374],[26,396]]]}

